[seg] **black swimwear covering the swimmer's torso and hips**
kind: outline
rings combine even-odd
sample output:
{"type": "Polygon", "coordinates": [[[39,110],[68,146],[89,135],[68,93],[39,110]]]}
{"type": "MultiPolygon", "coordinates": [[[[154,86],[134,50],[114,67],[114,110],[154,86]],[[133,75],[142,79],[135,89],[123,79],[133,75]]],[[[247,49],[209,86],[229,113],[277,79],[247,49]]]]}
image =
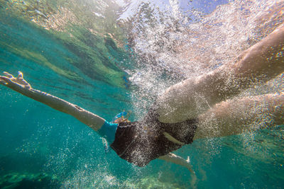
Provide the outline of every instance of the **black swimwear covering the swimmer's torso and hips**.
{"type": "Polygon", "coordinates": [[[111,148],[122,159],[136,166],[146,166],[153,159],[192,143],[196,128],[195,119],[163,123],[158,120],[157,114],[148,113],[139,122],[119,123],[111,148]],[[167,139],[165,132],[178,142],[167,139]]]}

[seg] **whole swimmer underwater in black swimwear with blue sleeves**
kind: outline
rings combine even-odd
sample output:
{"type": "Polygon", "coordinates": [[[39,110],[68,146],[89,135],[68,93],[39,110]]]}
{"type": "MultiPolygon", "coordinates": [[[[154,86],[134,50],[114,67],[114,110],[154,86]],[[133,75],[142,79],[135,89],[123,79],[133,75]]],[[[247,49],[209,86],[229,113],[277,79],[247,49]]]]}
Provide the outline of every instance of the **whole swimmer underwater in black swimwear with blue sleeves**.
{"type": "Polygon", "coordinates": [[[4,72],[6,76],[0,76],[0,84],[77,118],[105,137],[116,154],[132,164],[146,166],[158,158],[192,171],[188,161],[170,152],[195,139],[252,130],[249,125],[256,121],[256,112],[251,110],[256,104],[268,107],[265,111],[272,120],[267,126],[284,124],[283,92],[231,99],[246,88],[282,74],[283,52],[284,26],[242,52],[234,64],[171,86],[137,122],[123,117],[117,123],[107,122],[75,104],[33,89],[20,71],[16,78],[4,72]]]}

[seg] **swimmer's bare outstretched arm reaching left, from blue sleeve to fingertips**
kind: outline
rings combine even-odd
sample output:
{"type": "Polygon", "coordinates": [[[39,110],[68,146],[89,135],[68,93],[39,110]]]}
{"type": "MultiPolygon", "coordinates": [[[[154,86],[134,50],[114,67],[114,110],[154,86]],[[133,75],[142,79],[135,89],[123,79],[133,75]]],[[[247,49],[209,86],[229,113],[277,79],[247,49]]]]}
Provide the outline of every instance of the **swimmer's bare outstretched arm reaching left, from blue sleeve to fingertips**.
{"type": "Polygon", "coordinates": [[[0,84],[13,89],[13,91],[17,91],[24,96],[33,98],[33,100],[44,103],[45,105],[48,105],[55,110],[59,110],[62,113],[72,115],[77,118],[77,120],[80,120],[80,122],[83,122],[95,131],[99,130],[102,125],[104,125],[105,120],[98,115],[84,110],[75,104],[64,101],[56,96],[31,88],[31,85],[23,79],[21,71],[18,72],[18,77],[16,78],[8,72],[4,72],[4,74],[6,76],[0,76],[0,84]]]}

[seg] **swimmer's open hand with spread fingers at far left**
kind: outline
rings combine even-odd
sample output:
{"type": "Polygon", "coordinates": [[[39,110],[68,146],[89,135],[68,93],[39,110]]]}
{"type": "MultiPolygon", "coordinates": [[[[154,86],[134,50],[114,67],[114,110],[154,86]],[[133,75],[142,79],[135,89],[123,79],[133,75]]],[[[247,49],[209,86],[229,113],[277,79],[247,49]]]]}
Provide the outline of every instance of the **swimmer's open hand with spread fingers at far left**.
{"type": "Polygon", "coordinates": [[[0,84],[4,86],[8,86],[9,88],[18,91],[19,88],[23,89],[32,89],[31,85],[23,79],[23,73],[18,71],[18,76],[14,77],[12,74],[8,72],[3,72],[6,76],[0,76],[0,84]]]}

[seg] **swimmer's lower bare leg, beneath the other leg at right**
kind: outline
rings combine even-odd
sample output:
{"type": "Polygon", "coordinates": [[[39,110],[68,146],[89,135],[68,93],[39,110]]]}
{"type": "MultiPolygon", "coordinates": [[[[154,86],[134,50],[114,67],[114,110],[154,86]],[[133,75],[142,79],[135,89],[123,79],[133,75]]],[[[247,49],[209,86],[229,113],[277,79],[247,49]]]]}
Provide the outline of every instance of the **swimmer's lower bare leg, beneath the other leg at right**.
{"type": "Polygon", "coordinates": [[[224,137],[284,124],[284,93],[239,98],[199,116],[194,139],[224,137]]]}

